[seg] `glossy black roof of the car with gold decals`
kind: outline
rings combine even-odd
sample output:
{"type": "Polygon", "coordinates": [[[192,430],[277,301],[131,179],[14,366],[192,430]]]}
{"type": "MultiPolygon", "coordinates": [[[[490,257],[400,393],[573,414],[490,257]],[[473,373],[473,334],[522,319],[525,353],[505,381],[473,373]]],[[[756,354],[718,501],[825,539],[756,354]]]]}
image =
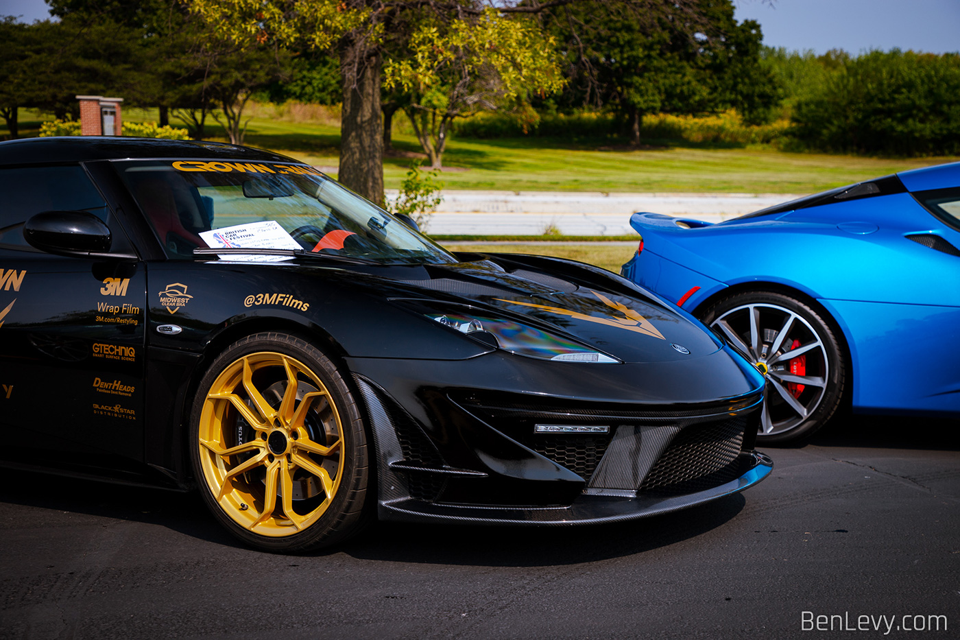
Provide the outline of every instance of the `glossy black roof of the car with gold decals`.
{"type": "Polygon", "coordinates": [[[36,162],[148,158],[298,161],[269,151],[204,140],[80,135],[28,137],[0,142],[0,166],[36,162]]]}

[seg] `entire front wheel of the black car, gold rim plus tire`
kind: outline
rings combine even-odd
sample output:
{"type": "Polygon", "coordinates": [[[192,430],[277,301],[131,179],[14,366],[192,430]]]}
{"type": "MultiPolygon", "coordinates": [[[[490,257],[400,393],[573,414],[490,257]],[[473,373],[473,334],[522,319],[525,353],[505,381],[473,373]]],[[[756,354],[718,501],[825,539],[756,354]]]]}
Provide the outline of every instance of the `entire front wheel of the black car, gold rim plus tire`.
{"type": "Polygon", "coordinates": [[[252,547],[308,552],[365,522],[360,410],[333,362],[298,337],[257,333],[213,361],[190,414],[190,454],[205,504],[252,547]]]}

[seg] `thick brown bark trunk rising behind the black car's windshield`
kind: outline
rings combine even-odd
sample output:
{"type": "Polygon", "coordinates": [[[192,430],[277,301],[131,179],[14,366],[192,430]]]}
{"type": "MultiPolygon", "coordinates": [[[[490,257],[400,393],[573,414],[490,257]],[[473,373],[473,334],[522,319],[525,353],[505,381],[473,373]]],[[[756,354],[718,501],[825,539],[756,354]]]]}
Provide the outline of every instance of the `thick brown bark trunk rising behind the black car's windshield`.
{"type": "Polygon", "coordinates": [[[377,205],[383,198],[383,128],[380,123],[380,57],[363,56],[355,42],[340,55],[344,105],[340,120],[338,180],[377,205]]]}

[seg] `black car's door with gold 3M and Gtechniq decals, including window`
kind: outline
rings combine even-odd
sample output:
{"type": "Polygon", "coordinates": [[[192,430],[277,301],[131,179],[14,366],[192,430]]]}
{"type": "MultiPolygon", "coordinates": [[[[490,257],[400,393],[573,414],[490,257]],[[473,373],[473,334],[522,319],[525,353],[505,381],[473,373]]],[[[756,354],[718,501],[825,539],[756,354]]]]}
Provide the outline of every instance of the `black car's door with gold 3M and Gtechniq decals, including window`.
{"type": "Polygon", "coordinates": [[[132,252],[80,164],[0,167],[0,455],[124,468],[143,456],[145,268],[36,250],[23,227],[45,210],[92,212],[132,252]]]}

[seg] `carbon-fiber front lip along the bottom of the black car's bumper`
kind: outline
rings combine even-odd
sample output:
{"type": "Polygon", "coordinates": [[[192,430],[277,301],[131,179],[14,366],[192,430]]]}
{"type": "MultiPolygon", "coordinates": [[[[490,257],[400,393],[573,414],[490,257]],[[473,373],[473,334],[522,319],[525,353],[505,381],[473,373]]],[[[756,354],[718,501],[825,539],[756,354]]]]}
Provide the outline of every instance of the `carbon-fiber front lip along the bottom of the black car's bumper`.
{"type": "Polygon", "coordinates": [[[434,505],[409,498],[380,503],[380,518],[403,522],[461,522],[486,525],[569,527],[624,522],[703,505],[754,486],[773,471],[773,460],[752,452],[749,467],[735,480],[682,496],[616,498],[581,495],[569,506],[434,505]]]}

